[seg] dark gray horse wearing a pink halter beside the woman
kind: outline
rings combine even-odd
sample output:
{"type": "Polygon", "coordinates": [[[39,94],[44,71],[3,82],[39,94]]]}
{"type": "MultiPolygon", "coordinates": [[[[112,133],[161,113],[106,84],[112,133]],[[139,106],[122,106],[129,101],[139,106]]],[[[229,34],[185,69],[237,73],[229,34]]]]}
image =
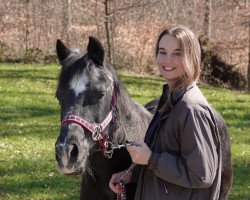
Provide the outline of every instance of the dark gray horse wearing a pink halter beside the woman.
{"type": "MultiPolygon", "coordinates": [[[[117,147],[143,141],[159,99],[145,107],[132,100],[94,37],[89,37],[86,53],[69,49],[61,40],[56,51],[62,66],[56,90],[62,122],[55,143],[58,168],[65,175],[82,174],[80,199],[114,200],[109,180],[132,162],[126,149],[117,147]]],[[[216,111],[215,119],[222,144],[220,200],[224,200],[232,185],[230,138],[216,111]]],[[[127,199],[134,199],[136,185],[126,188],[127,199]]]]}

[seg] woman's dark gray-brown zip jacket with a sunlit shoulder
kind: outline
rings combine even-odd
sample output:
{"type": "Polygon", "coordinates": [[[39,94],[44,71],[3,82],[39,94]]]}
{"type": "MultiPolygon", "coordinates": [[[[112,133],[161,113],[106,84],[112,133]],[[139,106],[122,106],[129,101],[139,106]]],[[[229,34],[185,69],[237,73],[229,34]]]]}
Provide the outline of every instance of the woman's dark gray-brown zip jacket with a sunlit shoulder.
{"type": "MultiPolygon", "coordinates": [[[[176,100],[183,89],[173,93],[176,100]]],[[[167,95],[164,86],[160,103],[167,95]]],[[[142,166],[135,200],[215,200],[220,193],[221,148],[213,109],[197,85],[164,112],[142,166]]]]}

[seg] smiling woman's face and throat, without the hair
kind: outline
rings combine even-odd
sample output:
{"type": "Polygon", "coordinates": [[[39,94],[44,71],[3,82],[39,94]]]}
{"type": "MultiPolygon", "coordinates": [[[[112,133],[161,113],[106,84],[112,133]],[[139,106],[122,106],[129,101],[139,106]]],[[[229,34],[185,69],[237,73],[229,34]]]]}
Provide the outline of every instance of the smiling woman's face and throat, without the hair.
{"type": "Polygon", "coordinates": [[[163,78],[167,80],[170,89],[173,89],[184,74],[181,45],[176,38],[164,35],[160,39],[156,64],[163,78]]]}

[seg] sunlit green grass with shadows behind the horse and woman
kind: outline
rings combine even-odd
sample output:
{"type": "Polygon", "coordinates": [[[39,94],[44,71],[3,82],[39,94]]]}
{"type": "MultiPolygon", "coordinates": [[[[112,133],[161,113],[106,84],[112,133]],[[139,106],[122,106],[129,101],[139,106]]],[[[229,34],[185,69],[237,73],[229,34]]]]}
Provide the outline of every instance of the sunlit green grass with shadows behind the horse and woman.
{"type": "MultiPolygon", "coordinates": [[[[59,132],[55,65],[0,64],[0,199],[79,199],[81,177],[57,170],[59,132]]],[[[131,97],[144,104],[161,93],[164,81],[120,73],[131,97]]],[[[232,137],[234,183],[230,200],[250,199],[250,95],[201,87],[224,117],[232,137]]]]}

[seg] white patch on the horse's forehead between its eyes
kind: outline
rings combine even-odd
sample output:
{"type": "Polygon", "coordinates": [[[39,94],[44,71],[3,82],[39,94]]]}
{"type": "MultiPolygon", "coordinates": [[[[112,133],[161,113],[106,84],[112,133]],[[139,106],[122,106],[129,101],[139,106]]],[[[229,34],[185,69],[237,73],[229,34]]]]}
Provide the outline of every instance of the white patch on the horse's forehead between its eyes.
{"type": "Polygon", "coordinates": [[[70,89],[73,89],[75,95],[78,96],[79,93],[86,90],[86,85],[88,83],[88,78],[84,74],[75,75],[70,81],[70,89]]]}

